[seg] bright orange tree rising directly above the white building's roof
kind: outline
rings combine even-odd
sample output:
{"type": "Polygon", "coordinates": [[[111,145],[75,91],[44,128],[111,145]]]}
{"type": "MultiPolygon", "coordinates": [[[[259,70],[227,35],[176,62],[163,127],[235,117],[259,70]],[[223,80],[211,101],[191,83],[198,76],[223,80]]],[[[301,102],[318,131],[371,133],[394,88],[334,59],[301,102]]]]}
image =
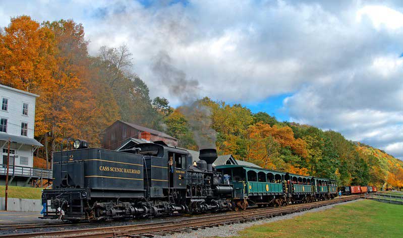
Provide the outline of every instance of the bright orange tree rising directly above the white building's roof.
{"type": "Polygon", "coordinates": [[[11,18],[0,35],[0,80],[13,88],[38,93],[51,79],[54,35],[28,16],[11,18]]]}

